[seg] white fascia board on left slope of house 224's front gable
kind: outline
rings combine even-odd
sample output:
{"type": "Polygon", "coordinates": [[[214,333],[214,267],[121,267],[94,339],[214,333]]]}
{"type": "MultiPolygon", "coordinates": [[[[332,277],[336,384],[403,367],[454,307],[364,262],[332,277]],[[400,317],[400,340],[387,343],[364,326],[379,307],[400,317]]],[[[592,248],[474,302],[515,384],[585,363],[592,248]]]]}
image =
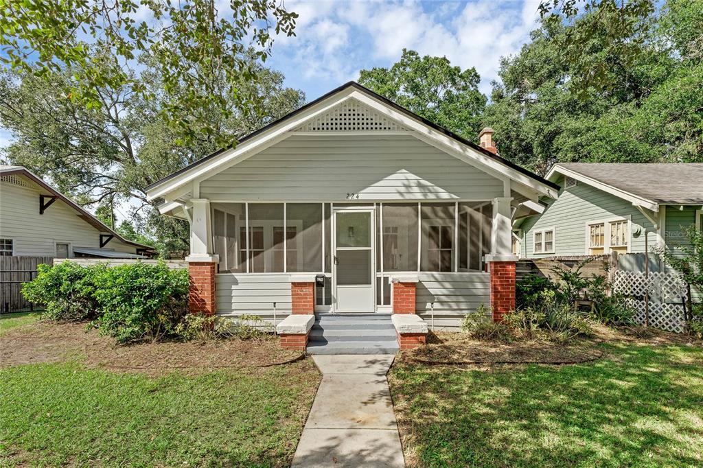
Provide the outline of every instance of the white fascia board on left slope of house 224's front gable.
{"type": "Polygon", "coordinates": [[[205,164],[195,166],[190,171],[186,171],[183,174],[179,174],[179,176],[165,181],[160,186],[148,190],[147,200],[161,197],[192,181],[199,181],[203,178],[214,176],[220,171],[224,171],[224,169],[255,155],[257,152],[285,140],[285,138],[292,135],[290,130],[297,128],[297,126],[300,126],[306,120],[313,119],[344,102],[344,100],[349,98],[351,92],[352,89],[344,89],[334,96],[325,99],[323,102],[314,105],[312,108],[305,110],[305,112],[301,112],[299,115],[295,116],[295,118],[282,122],[279,126],[274,126],[272,129],[269,129],[269,131],[264,131],[262,134],[254,136],[254,138],[237,145],[235,148],[222,152],[205,164]]]}

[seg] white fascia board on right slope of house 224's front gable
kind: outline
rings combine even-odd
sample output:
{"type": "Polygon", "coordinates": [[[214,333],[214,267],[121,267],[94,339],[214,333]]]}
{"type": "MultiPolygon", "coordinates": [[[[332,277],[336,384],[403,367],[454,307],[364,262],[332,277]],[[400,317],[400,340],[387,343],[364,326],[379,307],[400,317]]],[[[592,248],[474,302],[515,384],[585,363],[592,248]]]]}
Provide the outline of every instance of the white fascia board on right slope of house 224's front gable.
{"type": "Polygon", "coordinates": [[[375,100],[366,93],[361,93],[360,91],[355,90],[352,93],[352,97],[360,100],[369,107],[374,108],[378,112],[387,115],[389,118],[396,120],[396,122],[400,122],[404,126],[408,127],[408,129],[412,129],[414,132],[411,135],[415,136],[415,138],[419,138],[420,140],[425,141],[425,143],[429,143],[449,155],[458,157],[467,164],[477,167],[477,169],[488,171],[490,174],[495,175],[501,180],[510,178],[524,184],[525,186],[528,186],[529,188],[537,190],[539,193],[547,197],[555,198],[557,196],[557,190],[554,188],[540,183],[534,180],[534,178],[522,174],[520,171],[508,167],[505,164],[502,164],[501,162],[498,162],[493,158],[486,156],[481,152],[460,143],[459,141],[456,141],[454,138],[450,138],[449,136],[432,129],[430,126],[427,126],[422,122],[418,122],[417,120],[412,119],[411,117],[408,117],[393,108],[389,108],[389,106],[385,105],[385,103],[375,100]]]}

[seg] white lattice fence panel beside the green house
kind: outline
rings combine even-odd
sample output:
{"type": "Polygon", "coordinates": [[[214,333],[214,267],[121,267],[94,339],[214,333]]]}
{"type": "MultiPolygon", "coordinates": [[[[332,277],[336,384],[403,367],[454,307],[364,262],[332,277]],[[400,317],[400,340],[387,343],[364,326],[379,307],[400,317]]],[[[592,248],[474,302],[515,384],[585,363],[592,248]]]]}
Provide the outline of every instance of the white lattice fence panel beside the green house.
{"type": "Polygon", "coordinates": [[[676,273],[654,272],[647,276],[634,271],[615,271],[612,290],[626,297],[636,311],[637,323],[644,325],[648,314],[652,327],[668,332],[685,331],[686,283],[676,273]]]}

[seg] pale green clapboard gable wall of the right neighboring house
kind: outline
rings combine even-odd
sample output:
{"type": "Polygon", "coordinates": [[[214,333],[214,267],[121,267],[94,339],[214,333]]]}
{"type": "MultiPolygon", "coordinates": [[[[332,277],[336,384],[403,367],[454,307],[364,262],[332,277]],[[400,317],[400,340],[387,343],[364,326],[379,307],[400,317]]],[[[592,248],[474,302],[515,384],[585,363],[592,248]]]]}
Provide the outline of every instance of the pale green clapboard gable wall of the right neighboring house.
{"type": "MultiPolygon", "coordinates": [[[[562,189],[557,200],[552,202],[541,216],[533,216],[522,223],[522,255],[527,258],[562,255],[586,254],[586,223],[606,219],[630,217],[632,230],[630,233],[631,252],[644,252],[644,229],[653,230],[654,226],[633,207],[630,202],[605,193],[579,182],[576,187],[562,189]],[[534,254],[532,252],[532,236],[536,230],[555,228],[554,254],[534,254]],[[638,231],[635,237],[633,233],[638,231]]],[[[650,245],[657,242],[656,233],[649,233],[650,245]]]]}

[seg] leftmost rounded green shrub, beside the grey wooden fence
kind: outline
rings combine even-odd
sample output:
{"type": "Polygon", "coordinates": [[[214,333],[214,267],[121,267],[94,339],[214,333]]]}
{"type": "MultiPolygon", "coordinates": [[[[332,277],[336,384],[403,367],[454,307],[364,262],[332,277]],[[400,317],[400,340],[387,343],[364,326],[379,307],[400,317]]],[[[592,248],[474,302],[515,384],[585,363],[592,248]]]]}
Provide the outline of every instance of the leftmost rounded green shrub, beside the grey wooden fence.
{"type": "Polygon", "coordinates": [[[22,285],[28,301],[44,305],[42,316],[51,320],[93,320],[98,316],[94,297],[96,276],[104,265],[80,266],[70,261],[37,266],[37,278],[22,285]]]}

